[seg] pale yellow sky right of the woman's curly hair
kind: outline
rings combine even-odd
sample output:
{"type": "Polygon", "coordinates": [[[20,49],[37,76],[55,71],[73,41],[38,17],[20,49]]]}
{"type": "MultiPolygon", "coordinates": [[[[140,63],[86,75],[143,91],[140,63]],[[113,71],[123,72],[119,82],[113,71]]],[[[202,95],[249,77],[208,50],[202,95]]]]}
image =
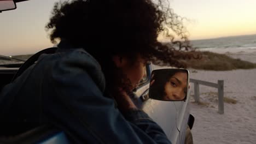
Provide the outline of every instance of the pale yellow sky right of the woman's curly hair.
{"type": "Polygon", "coordinates": [[[255,0],[172,0],[170,5],[189,19],[190,39],[256,34],[255,0]]]}

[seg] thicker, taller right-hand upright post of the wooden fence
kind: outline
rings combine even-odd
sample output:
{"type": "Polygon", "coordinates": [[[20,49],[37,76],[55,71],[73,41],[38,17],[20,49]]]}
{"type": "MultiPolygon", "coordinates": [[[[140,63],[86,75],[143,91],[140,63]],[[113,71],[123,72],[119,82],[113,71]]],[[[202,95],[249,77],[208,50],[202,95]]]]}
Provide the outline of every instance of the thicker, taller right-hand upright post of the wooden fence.
{"type": "Polygon", "coordinates": [[[224,113],[224,81],[218,80],[218,113],[224,113]]]}

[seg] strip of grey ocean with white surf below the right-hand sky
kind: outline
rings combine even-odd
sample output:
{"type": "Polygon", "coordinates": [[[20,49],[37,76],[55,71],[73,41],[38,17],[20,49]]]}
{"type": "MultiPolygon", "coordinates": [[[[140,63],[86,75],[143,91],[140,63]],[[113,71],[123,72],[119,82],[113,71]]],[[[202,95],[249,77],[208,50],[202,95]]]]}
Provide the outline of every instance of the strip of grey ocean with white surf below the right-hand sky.
{"type": "Polygon", "coordinates": [[[211,49],[256,49],[256,34],[222,37],[215,39],[191,40],[194,47],[211,49]]]}

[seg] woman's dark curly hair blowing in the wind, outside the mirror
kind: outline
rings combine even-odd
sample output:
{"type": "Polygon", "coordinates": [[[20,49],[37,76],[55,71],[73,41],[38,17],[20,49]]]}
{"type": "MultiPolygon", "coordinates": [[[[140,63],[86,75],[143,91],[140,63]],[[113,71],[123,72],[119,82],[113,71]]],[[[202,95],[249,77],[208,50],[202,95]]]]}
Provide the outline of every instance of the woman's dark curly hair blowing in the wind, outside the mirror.
{"type": "Polygon", "coordinates": [[[186,66],[180,60],[197,57],[184,32],[182,17],[164,7],[164,3],[161,0],[57,2],[45,28],[50,30],[53,44],[66,39],[94,56],[102,65],[106,86],[112,91],[117,86],[129,85],[112,62],[114,55],[125,56],[134,63],[135,54],[140,54],[153,64],[179,68],[186,66]],[[179,40],[174,40],[171,31],[179,40]],[[158,41],[161,33],[170,38],[170,43],[158,41]]]}

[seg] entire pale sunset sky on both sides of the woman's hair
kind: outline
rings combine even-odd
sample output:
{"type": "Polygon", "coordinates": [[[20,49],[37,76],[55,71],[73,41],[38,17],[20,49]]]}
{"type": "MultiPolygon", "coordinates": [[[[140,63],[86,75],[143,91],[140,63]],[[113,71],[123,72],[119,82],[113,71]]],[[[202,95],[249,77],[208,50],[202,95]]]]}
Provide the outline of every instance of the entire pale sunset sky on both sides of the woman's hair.
{"type": "MultiPolygon", "coordinates": [[[[20,2],[16,10],[0,13],[0,55],[35,53],[53,46],[44,26],[57,1],[20,2]]],[[[170,0],[170,6],[188,19],[190,39],[256,34],[255,0],[170,0]]]]}

